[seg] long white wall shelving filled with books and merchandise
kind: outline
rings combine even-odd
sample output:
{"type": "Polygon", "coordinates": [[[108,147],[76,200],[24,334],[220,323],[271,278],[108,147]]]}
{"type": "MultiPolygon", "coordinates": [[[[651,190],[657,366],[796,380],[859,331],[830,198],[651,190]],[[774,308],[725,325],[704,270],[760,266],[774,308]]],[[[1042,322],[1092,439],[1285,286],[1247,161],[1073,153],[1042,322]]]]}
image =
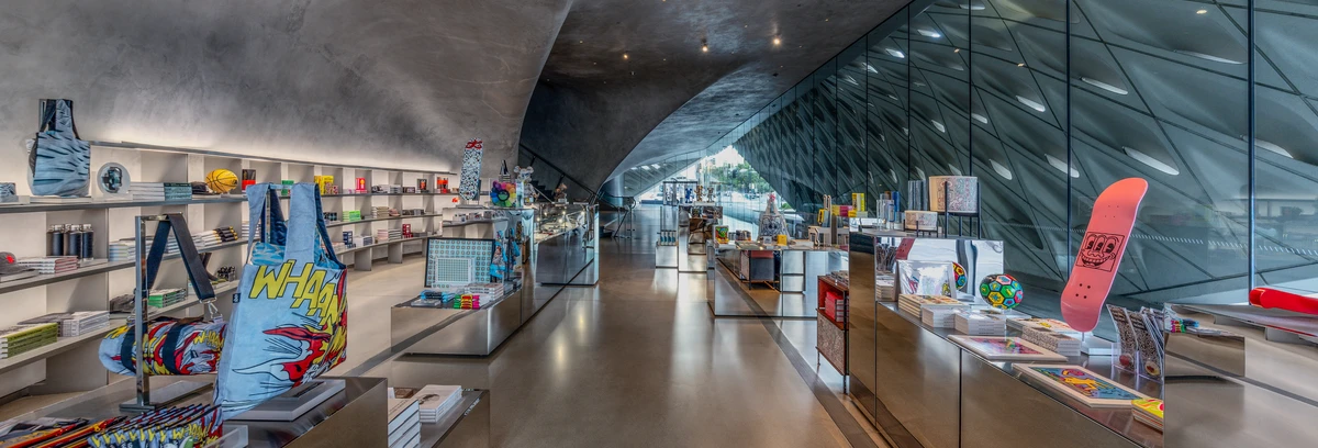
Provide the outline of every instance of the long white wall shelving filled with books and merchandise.
{"type": "MultiPolygon", "coordinates": [[[[128,169],[132,182],[200,182],[206,174],[216,169],[227,169],[241,174],[244,169],[254,169],[257,182],[279,183],[314,182],[318,175],[332,175],[341,191],[356,188],[356,179],[365,178],[368,188],[374,184],[416,186],[418,179],[427,179],[432,187],[436,179],[447,178],[456,184],[456,175],[445,171],[411,171],[399,169],[348,166],[318,163],[314,161],[293,161],[279,158],[249,157],[210,150],[186,148],[166,148],[129,142],[92,142],[91,171],[107,162],[117,162],[128,169]]],[[[220,244],[202,249],[212,253],[207,266],[215,271],[220,266],[243,267],[246,235],[241,235],[243,221],[248,220],[246,200],[240,196],[194,196],[192,200],[171,202],[109,202],[95,186],[92,179],[92,203],[24,204],[0,206],[0,250],[12,252],[18,258],[41,257],[46,254],[45,232],[54,224],[92,224],[95,229],[96,258],[105,258],[111,241],[133,236],[133,217],[154,213],[183,213],[192,233],[215,228],[232,227],[240,233],[240,241],[220,244]]],[[[364,194],[327,195],[322,199],[326,212],[357,210],[362,212],[361,221],[336,221],[330,224],[330,237],[341,240],[341,232],[353,235],[376,235],[378,229],[401,229],[411,224],[414,231],[439,235],[443,225],[443,211],[457,203],[456,194],[364,194]],[[369,219],[377,206],[390,208],[422,208],[422,216],[394,216],[369,219]]],[[[287,202],[281,204],[287,211],[287,202]]],[[[152,228],[148,228],[150,232],[152,228]]],[[[376,260],[387,258],[402,262],[406,253],[420,252],[423,238],[406,238],[377,242],[369,246],[352,248],[340,252],[344,264],[357,270],[369,270],[376,260]]],[[[157,287],[187,287],[187,273],[178,257],[169,257],[161,266],[157,287]]],[[[55,275],[0,283],[0,325],[41,316],[49,312],[107,310],[109,299],[132,293],[133,262],[116,261],[79,269],[55,275]]],[[[241,271],[239,273],[241,275],[241,271]]],[[[216,289],[216,300],[225,314],[232,308],[228,295],[237,289],[236,283],[216,289]]],[[[153,310],[153,316],[195,316],[202,312],[190,296],[186,302],[162,310],[153,310]]],[[[78,337],[62,337],[58,343],[0,360],[0,397],[26,394],[55,394],[92,390],[116,379],[128,378],[108,373],[98,358],[99,341],[112,328],[123,325],[123,319],[112,319],[111,327],[78,337]]]]}

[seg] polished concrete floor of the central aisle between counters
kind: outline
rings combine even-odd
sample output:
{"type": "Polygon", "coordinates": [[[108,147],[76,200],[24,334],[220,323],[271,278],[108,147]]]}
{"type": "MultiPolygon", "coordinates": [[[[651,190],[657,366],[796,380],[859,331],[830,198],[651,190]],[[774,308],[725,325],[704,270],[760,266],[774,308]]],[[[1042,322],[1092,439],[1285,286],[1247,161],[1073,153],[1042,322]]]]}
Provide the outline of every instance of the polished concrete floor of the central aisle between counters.
{"type": "MultiPolygon", "coordinates": [[[[360,328],[357,364],[339,372],[488,389],[496,447],[882,447],[842,378],[816,368],[813,322],[714,319],[704,274],[654,267],[656,229],[656,210],[639,210],[635,238],[602,238],[597,286],[565,289],[489,357],[372,366],[387,332],[360,328]]],[[[364,275],[349,293],[349,312],[364,314],[353,322],[387,322],[420,266],[364,275]]]]}

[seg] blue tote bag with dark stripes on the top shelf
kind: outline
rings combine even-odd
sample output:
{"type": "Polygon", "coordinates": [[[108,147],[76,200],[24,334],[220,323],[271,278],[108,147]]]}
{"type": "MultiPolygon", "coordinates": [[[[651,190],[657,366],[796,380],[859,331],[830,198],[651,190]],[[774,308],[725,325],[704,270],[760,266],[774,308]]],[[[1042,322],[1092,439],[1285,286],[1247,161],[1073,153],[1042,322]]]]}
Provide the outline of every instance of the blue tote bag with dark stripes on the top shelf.
{"type": "Polygon", "coordinates": [[[41,129],[28,153],[32,194],[37,196],[87,196],[91,177],[91,144],[78,140],[74,103],[41,100],[41,129]]]}

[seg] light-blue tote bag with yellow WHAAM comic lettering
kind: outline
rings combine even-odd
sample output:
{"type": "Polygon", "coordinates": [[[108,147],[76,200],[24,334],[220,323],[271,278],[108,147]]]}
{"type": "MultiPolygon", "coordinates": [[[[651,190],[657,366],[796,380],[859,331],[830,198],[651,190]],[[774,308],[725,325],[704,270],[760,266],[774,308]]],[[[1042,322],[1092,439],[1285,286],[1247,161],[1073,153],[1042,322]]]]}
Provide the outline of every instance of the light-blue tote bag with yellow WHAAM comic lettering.
{"type": "Polygon", "coordinates": [[[324,374],[347,353],[347,278],[320,213],[320,191],[294,184],[283,221],[273,188],[246,190],[248,258],[215,389],[224,419],[324,374]]]}

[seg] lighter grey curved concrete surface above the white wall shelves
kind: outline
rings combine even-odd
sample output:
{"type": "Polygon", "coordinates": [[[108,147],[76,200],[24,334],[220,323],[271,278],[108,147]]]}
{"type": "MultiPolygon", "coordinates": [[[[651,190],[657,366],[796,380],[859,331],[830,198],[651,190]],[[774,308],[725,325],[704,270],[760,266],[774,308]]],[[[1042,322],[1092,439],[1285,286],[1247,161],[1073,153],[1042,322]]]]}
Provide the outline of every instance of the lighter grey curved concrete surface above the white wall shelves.
{"type": "Polygon", "coordinates": [[[66,98],[86,140],[456,171],[481,137],[494,175],[569,4],[5,1],[0,157],[66,98]]]}

